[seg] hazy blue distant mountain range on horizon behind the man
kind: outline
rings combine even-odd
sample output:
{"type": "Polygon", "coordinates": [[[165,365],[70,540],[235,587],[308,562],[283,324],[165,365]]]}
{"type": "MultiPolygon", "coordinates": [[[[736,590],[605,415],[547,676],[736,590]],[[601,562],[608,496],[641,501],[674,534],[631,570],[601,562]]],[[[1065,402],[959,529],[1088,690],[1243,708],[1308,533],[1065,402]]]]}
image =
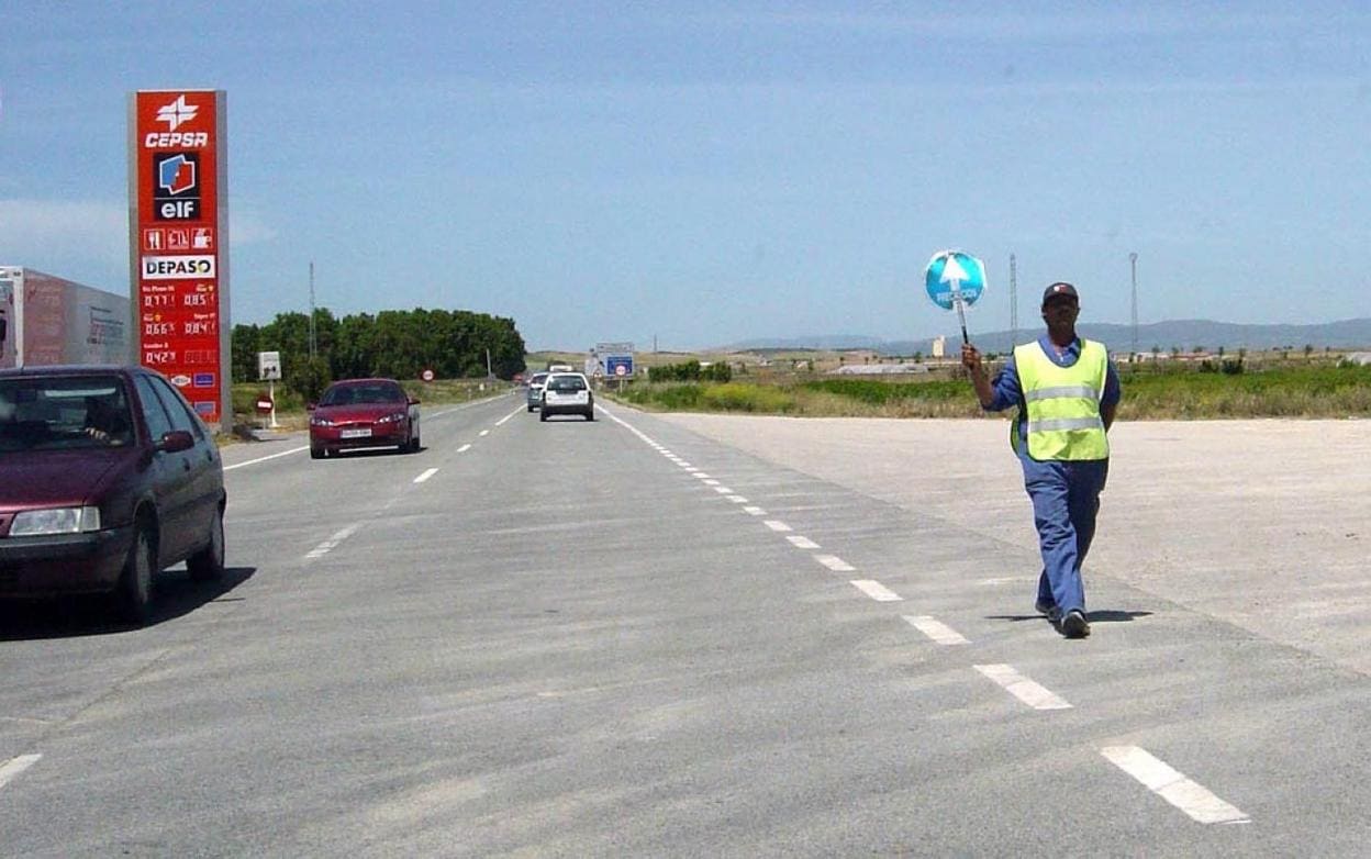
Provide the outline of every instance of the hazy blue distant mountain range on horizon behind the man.
{"type": "MultiPolygon", "coordinates": [[[[1042,334],[1042,323],[1034,319],[1035,325],[1019,330],[1019,343],[1028,343],[1042,334]]],[[[1080,323],[1076,330],[1082,337],[1100,340],[1113,352],[1127,352],[1132,347],[1132,326],[1102,323],[1080,323]]],[[[947,353],[961,345],[961,332],[946,334],[947,353]]],[[[1015,340],[1012,332],[976,332],[971,330],[971,341],[982,352],[1006,352],[1015,340]]],[[[932,352],[934,340],[880,340],[861,334],[825,334],[814,337],[755,337],[740,343],[720,347],[727,352],[757,352],[757,351],[784,351],[784,349],[828,349],[835,352],[851,349],[869,349],[880,355],[913,355],[932,352]]],[[[1289,347],[1302,349],[1312,345],[1316,349],[1324,347],[1333,349],[1361,349],[1371,348],[1371,319],[1342,319],[1339,322],[1324,322],[1322,325],[1234,325],[1230,322],[1212,322],[1209,319],[1174,319],[1168,322],[1153,322],[1138,326],[1138,351],[1152,352],[1157,347],[1163,352],[1180,348],[1189,352],[1197,347],[1216,351],[1235,349],[1279,349],[1289,347]]]]}

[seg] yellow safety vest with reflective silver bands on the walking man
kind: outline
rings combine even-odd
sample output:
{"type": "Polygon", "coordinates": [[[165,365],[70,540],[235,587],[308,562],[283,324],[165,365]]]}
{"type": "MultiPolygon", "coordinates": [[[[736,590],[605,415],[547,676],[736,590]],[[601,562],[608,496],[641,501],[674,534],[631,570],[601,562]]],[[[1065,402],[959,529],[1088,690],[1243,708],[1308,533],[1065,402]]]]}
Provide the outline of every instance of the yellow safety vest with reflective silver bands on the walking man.
{"type": "MultiPolygon", "coordinates": [[[[1104,344],[1080,341],[1080,356],[1058,367],[1038,341],[1015,347],[1015,367],[1028,414],[1028,456],[1038,460],[1108,459],[1109,437],[1100,400],[1109,373],[1104,344]]],[[[1010,441],[1019,452],[1019,433],[1010,441]]]]}

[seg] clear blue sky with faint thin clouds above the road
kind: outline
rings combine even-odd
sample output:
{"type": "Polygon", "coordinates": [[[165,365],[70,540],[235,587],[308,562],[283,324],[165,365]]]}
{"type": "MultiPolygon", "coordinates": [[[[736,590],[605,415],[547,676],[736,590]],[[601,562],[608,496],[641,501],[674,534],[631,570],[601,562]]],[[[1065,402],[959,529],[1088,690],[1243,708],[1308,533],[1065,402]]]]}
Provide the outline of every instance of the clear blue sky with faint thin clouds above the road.
{"type": "Polygon", "coordinates": [[[128,97],[228,93],[232,322],[531,349],[1371,316],[1366,3],[0,4],[0,264],[129,293],[128,97]],[[1237,10],[1237,11],[1233,11],[1237,10]]]}

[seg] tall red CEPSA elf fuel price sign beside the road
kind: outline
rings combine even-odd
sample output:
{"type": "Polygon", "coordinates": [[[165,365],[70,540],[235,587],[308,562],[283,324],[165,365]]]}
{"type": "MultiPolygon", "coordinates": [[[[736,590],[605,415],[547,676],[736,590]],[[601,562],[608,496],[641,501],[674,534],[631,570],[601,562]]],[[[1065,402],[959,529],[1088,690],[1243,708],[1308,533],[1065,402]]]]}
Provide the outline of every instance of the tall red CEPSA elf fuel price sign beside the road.
{"type": "Polygon", "coordinates": [[[180,388],[206,423],[232,422],[222,89],[129,96],[129,262],[138,362],[180,388]]]}

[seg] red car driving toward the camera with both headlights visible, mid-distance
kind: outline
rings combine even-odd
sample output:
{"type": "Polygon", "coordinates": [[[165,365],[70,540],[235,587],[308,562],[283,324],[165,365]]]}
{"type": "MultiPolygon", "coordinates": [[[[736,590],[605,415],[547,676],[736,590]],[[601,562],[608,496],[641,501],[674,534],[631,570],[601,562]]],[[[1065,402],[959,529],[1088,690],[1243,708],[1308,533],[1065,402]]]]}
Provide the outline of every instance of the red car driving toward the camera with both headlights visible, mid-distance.
{"type": "Polygon", "coordinates": [[[420,449],[420,401],[395,379],[333,382],[308,411],[314,459],[359,448],[420,449]]]}

